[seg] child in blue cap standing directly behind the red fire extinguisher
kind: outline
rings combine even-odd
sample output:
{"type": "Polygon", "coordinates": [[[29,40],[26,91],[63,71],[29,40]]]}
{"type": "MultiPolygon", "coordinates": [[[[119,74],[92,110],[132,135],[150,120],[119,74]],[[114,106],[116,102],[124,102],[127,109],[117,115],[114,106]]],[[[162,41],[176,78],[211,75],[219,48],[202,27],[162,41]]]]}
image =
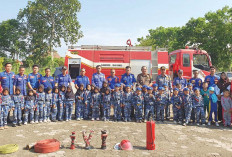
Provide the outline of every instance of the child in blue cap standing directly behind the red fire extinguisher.
{"type": "Polygon", "coordinates": [[[155,96],[152,94],[152,87],[147,88],[147,94],[144,96],[144,106],[146,106],[146,111],[144,115],[144,122],[147,122],[151,117],[154,120],[154,102],[155,96]]]}

